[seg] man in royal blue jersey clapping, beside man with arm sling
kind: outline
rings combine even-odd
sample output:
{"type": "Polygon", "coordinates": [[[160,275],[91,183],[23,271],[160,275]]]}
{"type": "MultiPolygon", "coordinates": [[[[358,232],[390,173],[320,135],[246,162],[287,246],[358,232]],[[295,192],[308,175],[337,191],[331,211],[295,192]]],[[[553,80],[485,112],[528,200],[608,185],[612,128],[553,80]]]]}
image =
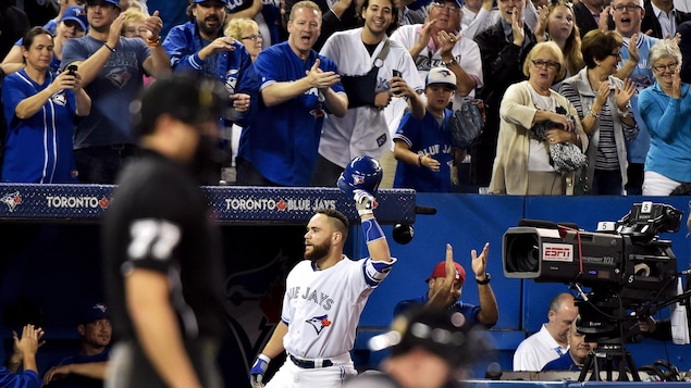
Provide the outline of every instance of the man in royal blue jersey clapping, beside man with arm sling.
{"type": "Polygon", "coordinates": [[[239,139],[238,185],[307,186],[326,112],[341,117],[348,109],[336,64],[312,50],[321,34],[319,7],[300,1],[289,17],[288,40],[255,61],[261,103],[239,139]]]}

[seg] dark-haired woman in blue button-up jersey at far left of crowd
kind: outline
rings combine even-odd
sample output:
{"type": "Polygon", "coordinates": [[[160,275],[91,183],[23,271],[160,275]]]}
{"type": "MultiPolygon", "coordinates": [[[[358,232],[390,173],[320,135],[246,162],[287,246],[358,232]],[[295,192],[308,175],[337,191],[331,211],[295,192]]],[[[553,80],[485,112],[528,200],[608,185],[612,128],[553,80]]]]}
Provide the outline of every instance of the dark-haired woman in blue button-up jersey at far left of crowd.
{"type": "Polygon", "coordinates": [[[22,46],[24,68],[2,83],[8,124],[2,182],[76,183],[73,121],[89,114],[91,99],[78,71],[50,72],[53,47],[48,30],[32,28],[22,46]]]}

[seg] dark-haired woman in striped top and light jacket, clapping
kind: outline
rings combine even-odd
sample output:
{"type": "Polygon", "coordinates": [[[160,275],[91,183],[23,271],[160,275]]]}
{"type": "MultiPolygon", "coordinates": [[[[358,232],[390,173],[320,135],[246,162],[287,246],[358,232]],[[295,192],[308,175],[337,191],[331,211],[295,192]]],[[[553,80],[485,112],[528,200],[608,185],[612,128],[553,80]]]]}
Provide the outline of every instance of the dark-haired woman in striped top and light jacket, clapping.
{"type": "Polygon", "coordinates": [[[626,142],[638,135],[629,100],[631,79],[614,76],[621,60],[621,36],[593,29],[583,37],[585,67],[564,80],[560,92],[576,107],[590,138],[582,193],[621,196],[627,183],[626,142]]]}

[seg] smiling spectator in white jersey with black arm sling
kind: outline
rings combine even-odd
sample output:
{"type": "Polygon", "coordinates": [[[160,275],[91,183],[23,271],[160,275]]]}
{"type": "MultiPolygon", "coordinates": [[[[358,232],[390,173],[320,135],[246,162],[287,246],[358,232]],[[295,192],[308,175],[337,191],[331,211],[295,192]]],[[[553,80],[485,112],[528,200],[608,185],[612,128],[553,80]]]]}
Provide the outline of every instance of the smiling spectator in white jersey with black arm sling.
{"type": "Polygon", "coordinates": [[[392,0],[366,0],[365,26],[333,34],[320,51],[338,66],[349,105],[344,117],[330,115],[324,121],[312,185],[331,186],[353,158],[380,159],[393,147],[382,111],[390,102],[399,101],[418,120],[424,116],[419,96],[424,87],[415,63],[403,46],[386,37],[397,13],[392,0]],[[354,82],[359,86],[349,89],[347,79],[354,76],[360,77],[354,82]],[[369,87],[361,86],[368,77],[369,87]]]}

